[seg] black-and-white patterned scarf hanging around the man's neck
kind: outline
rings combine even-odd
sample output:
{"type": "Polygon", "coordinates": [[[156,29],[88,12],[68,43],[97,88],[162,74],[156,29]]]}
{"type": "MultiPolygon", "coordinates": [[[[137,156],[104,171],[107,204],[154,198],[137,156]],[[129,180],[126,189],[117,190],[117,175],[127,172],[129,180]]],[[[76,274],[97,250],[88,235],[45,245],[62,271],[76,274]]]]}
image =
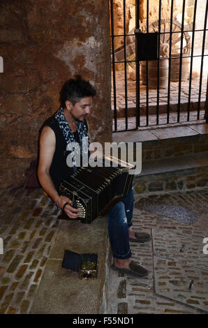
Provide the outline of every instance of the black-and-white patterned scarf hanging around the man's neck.
{"type": "Polygon", "coordinates": [[[73,172],[76,172],[77,158],[82,158],[82,156],[84,158],[88,158],[88,154],[89,154],[90,142],[89,142],[89,135],[87,133],[86,121],[85,120],[82,122],[77,121],[77,133],[80,137],[80,147],[75,147],[77,145],[77,142],[75,142],[75,137],[70,129],[66,117],[64,116],[62,107],[60,107],[59,110],[57,110],[57,112],[54,114],[54,119],[58,121],[59,128],[61,128],[61,131],[64,135],[64,139],[66,140],[66,144],[67,144],[66,150],[70,151],[69,153],[69,155],[71,156],[70,160],[73,163],[73,172]]]}

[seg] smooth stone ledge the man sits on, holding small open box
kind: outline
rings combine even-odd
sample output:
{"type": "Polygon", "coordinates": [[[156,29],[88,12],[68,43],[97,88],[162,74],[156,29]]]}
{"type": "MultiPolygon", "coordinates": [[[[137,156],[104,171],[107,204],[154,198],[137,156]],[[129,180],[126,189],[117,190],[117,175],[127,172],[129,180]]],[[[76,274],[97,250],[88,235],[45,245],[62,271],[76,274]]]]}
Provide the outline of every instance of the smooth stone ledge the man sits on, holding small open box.
{"type": "Polygon", "coordinates": [[[105,217],[97,218],[89,225],[62,220],[30,313],[104,312],[108,247],[105,217]],[[98,278],[80,280],[76,272],[63,269],[65,249],[76,253],[98,253],[98,278]]]}

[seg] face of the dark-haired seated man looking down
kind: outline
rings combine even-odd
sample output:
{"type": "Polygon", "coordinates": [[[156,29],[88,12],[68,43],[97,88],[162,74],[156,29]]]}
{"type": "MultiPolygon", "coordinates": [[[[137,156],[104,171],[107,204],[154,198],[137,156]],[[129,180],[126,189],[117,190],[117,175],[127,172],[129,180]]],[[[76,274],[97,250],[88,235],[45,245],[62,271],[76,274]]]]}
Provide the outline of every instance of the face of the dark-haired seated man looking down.
{"type": "Polygon", "coordinates": [[[84,121],[87,115],[90,114],[91,105],[92,97],[84,97],[82,100],[75,103],[75,105],[71,104],[70,114],[78,121],[84,121]]]}

